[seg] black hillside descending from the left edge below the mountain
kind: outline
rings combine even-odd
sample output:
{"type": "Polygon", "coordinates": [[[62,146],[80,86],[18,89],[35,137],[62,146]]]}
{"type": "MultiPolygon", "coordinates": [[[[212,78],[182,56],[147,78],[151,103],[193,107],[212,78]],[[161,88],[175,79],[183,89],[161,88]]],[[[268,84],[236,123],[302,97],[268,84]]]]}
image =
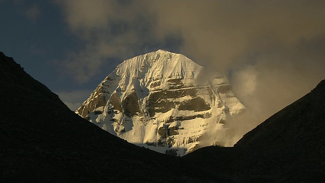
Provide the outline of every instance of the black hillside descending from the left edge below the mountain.
{"type": "Polygon", "coordinates": [[[0,101],[1,182],[219,181],[89,123],[2,52],[0,101]]]}

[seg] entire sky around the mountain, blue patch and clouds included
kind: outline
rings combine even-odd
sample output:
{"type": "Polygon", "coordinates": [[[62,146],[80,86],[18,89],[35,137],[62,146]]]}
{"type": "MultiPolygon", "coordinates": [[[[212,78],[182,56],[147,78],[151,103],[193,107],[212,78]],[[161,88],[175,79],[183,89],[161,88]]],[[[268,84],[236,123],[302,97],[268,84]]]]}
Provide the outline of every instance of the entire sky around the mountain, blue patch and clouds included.
{"type": "Polygon", "coordinates": [[[72,110],[123,60],[158,49],[226,75],[247,120],[325,79],[324,1],[0,0],[0,17],[0,51],[72,110]]]}

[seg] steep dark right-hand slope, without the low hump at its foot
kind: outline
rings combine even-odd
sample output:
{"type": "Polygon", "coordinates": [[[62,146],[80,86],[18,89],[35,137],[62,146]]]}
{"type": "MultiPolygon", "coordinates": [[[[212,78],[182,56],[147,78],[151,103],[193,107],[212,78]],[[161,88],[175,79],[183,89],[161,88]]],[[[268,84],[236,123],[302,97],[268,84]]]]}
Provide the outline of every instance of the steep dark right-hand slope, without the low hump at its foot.
{"type": "Polygon", "coordinates": [[[325,181],[325,80],[277,112],[235,145],[250,171],[292,182],[325,181]]]}

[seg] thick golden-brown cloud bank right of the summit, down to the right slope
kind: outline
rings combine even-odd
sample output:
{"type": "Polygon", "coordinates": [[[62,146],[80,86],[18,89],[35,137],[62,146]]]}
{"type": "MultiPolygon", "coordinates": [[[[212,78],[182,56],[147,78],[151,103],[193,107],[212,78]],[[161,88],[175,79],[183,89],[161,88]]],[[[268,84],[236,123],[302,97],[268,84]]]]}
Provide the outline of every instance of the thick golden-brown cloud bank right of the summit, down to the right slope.
{"type": "Polygon", "coordinates": [[[157,35],[177,30],[181,52],[228,75],[247,107],[237,140],[325,78],[323,1],[151,1],[157,35]]]}

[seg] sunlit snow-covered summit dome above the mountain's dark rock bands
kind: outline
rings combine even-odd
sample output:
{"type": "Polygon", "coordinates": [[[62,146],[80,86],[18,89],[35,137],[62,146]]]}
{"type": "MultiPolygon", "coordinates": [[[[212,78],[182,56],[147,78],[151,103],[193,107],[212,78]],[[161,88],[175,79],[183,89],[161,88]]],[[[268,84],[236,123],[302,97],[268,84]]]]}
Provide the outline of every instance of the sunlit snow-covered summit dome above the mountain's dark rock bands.
{"type": "Polygon", "coordinates": [[[117,76],[144,79],[148,84],[151,82],[149,78],[194,79],[201,69],[201,66],[182,54],[158,50],[126,59],[113,72],[117,76]]]}

